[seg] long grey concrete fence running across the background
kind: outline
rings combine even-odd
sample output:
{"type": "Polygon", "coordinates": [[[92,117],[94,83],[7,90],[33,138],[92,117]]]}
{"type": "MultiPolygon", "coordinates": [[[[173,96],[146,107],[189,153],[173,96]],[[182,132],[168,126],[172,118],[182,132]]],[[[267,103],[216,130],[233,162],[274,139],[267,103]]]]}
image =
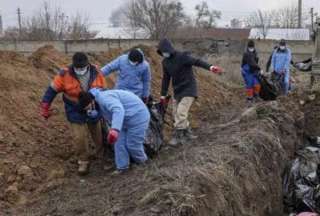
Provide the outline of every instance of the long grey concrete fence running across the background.
{"type": "MultiPolygon", "coordinates": [[[[241,54],[247,41],[222,41],[214,39],[194,39],[194,40],[174,40],[174,45],[178,49],[195,52],[199,55],[204,54],[241,54]]],[[[272,51],[276,41],[257,40],[256,47],[259,53],[267,54],[272,51]]],[[[105,52],[112,48],[130,49],[138,45],[156,46],[158,41],[148,39],[95,39],[95,40],[64,40],[64,41],[0,41],[0,50],[15,51],[30,54],[42,46],[52,45],[60,52],[74,53],[84,52],[105,52]]],[[[289,41],[289,47],[294,56],[307,58],[314,52],[312,41],[289,41]]]]}

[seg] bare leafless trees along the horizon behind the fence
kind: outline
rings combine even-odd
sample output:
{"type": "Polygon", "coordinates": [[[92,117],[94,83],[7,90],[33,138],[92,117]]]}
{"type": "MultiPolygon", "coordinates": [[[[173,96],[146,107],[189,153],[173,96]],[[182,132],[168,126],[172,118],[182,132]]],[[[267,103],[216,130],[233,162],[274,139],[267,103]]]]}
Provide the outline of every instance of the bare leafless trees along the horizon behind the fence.
{"type": "MultiPolygon", "coordinates": [[[[180,0],[128,0],[114,10],[109,21],[114,27],[122,27],[132,37],[143,31],[144,37],[160,39],[182,27],[202,29],[216,27],[222,12],[210,8],[206,1],[199,2],[194,15],[186,13],[180,0]]],[[[303,16],[303,21],[307,17],[303,16]]],[[[248,14],[245,19],[234,18],[232,28],[259,28],[263,35],[271,27],[296,28],[298,26],[298,7],[287,6],[272,11],[258,10],[248,14]]],[[[44,2],[38,12],[26,17],[18,27],[5,31],[5,39],[24,40],[77,40],[94,38],[98,32],[90,30],[89,16],[76,14],[72,17],[60,7],[53,8],[44,2]]]]}

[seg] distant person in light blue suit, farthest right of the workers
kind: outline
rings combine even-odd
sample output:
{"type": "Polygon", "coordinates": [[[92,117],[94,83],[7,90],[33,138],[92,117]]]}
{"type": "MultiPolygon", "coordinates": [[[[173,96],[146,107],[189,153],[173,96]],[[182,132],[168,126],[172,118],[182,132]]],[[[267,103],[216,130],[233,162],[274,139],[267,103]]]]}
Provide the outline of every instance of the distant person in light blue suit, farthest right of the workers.
{"type": "Polygon", "coordinates": [[[286,46],[286,41],[282,39],[279,47],[273,52],[271,65],[273,68],[273,79],[280,81],[284,95],[287,95],[290,89],[291,59],[291,50],[286,46]]]}

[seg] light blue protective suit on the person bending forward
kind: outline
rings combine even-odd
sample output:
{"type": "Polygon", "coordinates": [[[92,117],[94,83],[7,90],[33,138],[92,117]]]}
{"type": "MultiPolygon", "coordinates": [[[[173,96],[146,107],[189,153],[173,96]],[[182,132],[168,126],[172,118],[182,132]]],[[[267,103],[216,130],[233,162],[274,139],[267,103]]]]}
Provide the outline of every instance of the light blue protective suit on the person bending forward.
{"type": "Polygon", "coordinates": [[[148,158],[143,142],[149,126],[150,113],[138,96],[123,90],[91,89],[104,119],[111,128],[120,131],[115,143],[117,169],[129,168],[130,158],[143,163],[148,158]]]}

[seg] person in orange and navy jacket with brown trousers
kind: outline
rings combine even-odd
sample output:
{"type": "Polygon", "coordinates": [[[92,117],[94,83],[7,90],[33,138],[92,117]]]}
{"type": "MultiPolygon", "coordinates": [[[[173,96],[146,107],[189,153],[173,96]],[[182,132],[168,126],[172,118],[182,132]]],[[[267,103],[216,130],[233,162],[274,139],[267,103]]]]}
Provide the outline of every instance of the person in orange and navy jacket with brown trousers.
{"type": "Polygon", "coordinates": [[[72,57],[72,65],[62,69],[56,75],[42,97],[40,114],[47,120],[50,115],[50,106],[58,93],[63,93],[63,102],[67,120],[71,123],[76,153],[78,157],[78,173],[85,175],[89,171],[89,142],[90,135],[97,145],[102,147],[100,116],[97,111],[83,113],[79,107],[79,95],[91,88],[106,87],[101,71],[90,64],[88,57],[81,52],[72,57]]]}

